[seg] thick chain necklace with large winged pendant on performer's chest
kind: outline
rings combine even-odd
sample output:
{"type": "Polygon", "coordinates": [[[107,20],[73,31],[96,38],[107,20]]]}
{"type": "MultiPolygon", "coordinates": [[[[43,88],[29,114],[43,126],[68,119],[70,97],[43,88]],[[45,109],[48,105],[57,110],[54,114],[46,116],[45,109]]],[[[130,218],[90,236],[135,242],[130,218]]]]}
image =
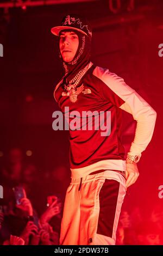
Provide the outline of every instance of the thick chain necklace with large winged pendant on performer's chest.
{"type": "MultiPolygon", "coordinates": [[[[90,64],[90,63],[89,63],[90,64]]],[[[86,73],[88,67],[89,67],[89,64],[87,64],[85,66],[84,69],[80,70],[76,76],[74,76],[72,78],[72,80],[69,81],[69,84],[66,86],[64,86],[65,90],[67,91],[67,96],[70,96],[70,101],[71,102],[76,102],[77,101],[77,97],[78,97],[78,94],[80,93],[80,90],[77,91],[76,90],[76,87],[77,85],[79,84],[80,80],[82,79],[82,77],[84,76],[84,74],[86,73]]],[[[84,87],[81,87],[81,92],[82,92],[82,89],[84,87]]],[[[65,94],[62,94],[62,95],[65,95],[65,94]]]]}

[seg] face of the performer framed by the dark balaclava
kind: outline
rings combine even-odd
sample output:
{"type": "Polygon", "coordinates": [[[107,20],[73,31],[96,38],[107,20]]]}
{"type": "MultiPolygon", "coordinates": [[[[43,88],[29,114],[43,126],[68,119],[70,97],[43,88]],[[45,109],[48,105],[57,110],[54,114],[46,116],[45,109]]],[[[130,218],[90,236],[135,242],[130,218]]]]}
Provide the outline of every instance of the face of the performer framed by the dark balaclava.
{"type": "Polygon", "coordinates": [[[59,48],[64,62],[71,62],[78,50],[79,38],[73,31],[61,31],[59,48]]]}

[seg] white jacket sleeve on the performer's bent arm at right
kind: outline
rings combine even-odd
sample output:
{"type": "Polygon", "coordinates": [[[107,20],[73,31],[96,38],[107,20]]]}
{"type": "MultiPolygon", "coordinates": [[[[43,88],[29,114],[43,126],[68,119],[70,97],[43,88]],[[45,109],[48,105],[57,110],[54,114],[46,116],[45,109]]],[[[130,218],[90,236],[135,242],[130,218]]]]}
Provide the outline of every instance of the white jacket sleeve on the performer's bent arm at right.
{"type": "Polygon", "coordinates": [[[137,121],[135,137],[131,143],[130,153],[141,156],[142,151],[146,149],[152,139],[156,121],[155,110],[134,89],[129,87],[123,78],[118,77],[108,69],[98,68],[96,75],[109,87],[108,95],[111,90],[117,97],[123,100],[121,106],[117,106],[132,114],[134,120],[137,121]]]}

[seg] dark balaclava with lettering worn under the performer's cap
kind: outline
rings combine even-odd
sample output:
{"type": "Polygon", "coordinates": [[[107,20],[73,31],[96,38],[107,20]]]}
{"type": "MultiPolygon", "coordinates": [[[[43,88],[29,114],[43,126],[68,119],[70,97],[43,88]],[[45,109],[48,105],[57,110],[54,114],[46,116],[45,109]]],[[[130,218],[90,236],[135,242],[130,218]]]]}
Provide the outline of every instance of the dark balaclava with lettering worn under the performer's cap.
{"type": "MultiPolygon", "coordinates": [[[[67,29],[64,31],[67,31],[67,29]]],[[[67,84],[81,69],[85,68],[85,66],[90,62],[91,57],[91,36],[85,35],[76,29],[68,29],[68,31],[73,31],[78,35],[79,46],[76,55],[71,62],[64,62],[59,50],[60,57],[65,68],[65,84],[67,84]]]]}

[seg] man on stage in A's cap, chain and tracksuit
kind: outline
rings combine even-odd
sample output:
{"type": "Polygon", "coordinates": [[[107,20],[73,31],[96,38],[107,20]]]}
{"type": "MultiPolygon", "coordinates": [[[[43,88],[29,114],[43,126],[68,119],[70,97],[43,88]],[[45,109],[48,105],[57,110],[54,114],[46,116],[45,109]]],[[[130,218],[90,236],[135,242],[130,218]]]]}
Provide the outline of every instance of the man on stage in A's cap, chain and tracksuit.
{"type": "Polygon", "coordinates": [[[126,189],[139,176],[137,162],[151,141],[156,112],[123,78],[91,62],[92,29],[86,19],[66,15],[61,26],[51,31],[59,36],[65,68],[54,90],[55,100],[66,118],[68,107],[69,121],[74,113],[79,113],[79,121],[85,121],[85,126],[77,122],[77,129],[70,127],[71,184],[66,192],[60,245],[115,245],[126,189]],[[121,143],[122,110],[137,121],[127,158],[121,143]],[[93,125],[97,123],[95,113],[105,113],[102,123],[110,118],[110,132],[102,135],[93,125],[87,129],[89,118],[84,119],[83,111],[93,114],[93,125]]]}

